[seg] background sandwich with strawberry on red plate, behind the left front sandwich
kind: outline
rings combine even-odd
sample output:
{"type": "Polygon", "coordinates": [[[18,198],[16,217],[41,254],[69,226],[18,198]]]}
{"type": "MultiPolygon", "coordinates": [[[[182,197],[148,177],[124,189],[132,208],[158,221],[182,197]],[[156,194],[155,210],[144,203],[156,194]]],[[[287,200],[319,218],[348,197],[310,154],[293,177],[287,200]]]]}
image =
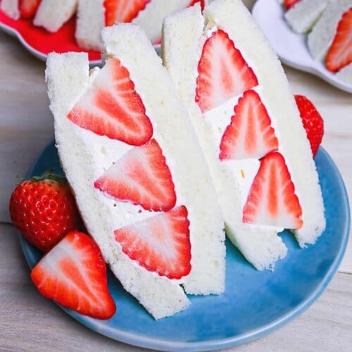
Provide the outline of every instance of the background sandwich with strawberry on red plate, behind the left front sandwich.
{"type": "Polygon", "coordinates": [[[161,42],[165,15],[204,0],[79,0],[76,39],[82,48],[101,50],[100,32],[115,23],[141,26],[153,44],[161,42]]]}

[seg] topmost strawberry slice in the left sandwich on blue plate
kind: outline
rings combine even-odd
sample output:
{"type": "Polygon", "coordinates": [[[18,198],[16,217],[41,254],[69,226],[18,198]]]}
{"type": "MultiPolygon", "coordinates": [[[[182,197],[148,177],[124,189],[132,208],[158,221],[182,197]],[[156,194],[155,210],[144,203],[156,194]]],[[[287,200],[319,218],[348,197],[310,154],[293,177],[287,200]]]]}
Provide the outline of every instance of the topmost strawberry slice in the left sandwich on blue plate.
{"type": "Polygon", "coordinates": [[[109,59],[68,114],[80,127],[100,136],[140,146],[151,139],[153,127],[130,73],[117,58],[109,59]]]}

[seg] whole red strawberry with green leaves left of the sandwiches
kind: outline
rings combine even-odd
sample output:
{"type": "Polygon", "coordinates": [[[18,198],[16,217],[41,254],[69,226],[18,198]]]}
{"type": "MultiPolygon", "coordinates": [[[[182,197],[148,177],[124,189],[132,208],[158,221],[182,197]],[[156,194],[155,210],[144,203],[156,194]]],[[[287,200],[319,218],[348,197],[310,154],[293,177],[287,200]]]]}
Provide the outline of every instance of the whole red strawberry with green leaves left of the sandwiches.
{"type": "Polygon", "coordinates": [[[18,184],[9,210],[13,225],[44,253],[80,225],[68,182],[57,175],[32,177],[18,184]]]}

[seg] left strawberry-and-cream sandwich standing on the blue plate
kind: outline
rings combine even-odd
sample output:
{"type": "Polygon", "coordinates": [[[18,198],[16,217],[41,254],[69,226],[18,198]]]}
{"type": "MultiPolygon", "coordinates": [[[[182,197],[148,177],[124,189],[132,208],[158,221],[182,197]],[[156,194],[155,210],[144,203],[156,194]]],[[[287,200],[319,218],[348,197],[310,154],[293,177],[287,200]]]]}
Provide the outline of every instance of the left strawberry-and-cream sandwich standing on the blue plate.
{"type": "Polygon", "coordinates": [[[186,109],[143,30],[106,27],[103,68],[86,54],[46,67],[58,155],[77,206],[122,286],[154,318],[186,294],[225,289],[225,232],[186,109]]]}

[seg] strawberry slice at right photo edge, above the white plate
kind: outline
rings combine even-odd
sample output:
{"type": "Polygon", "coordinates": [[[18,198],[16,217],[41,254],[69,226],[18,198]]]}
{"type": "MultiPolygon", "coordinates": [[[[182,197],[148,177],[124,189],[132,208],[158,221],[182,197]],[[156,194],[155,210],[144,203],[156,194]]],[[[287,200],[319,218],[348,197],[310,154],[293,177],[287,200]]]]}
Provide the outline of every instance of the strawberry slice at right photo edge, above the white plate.
{"type": "Polygon", "coordinates": [[[352,63],[352,7],[342,15],[332,46],[327,52],[327,69],[337,72],[352,63]]]}

